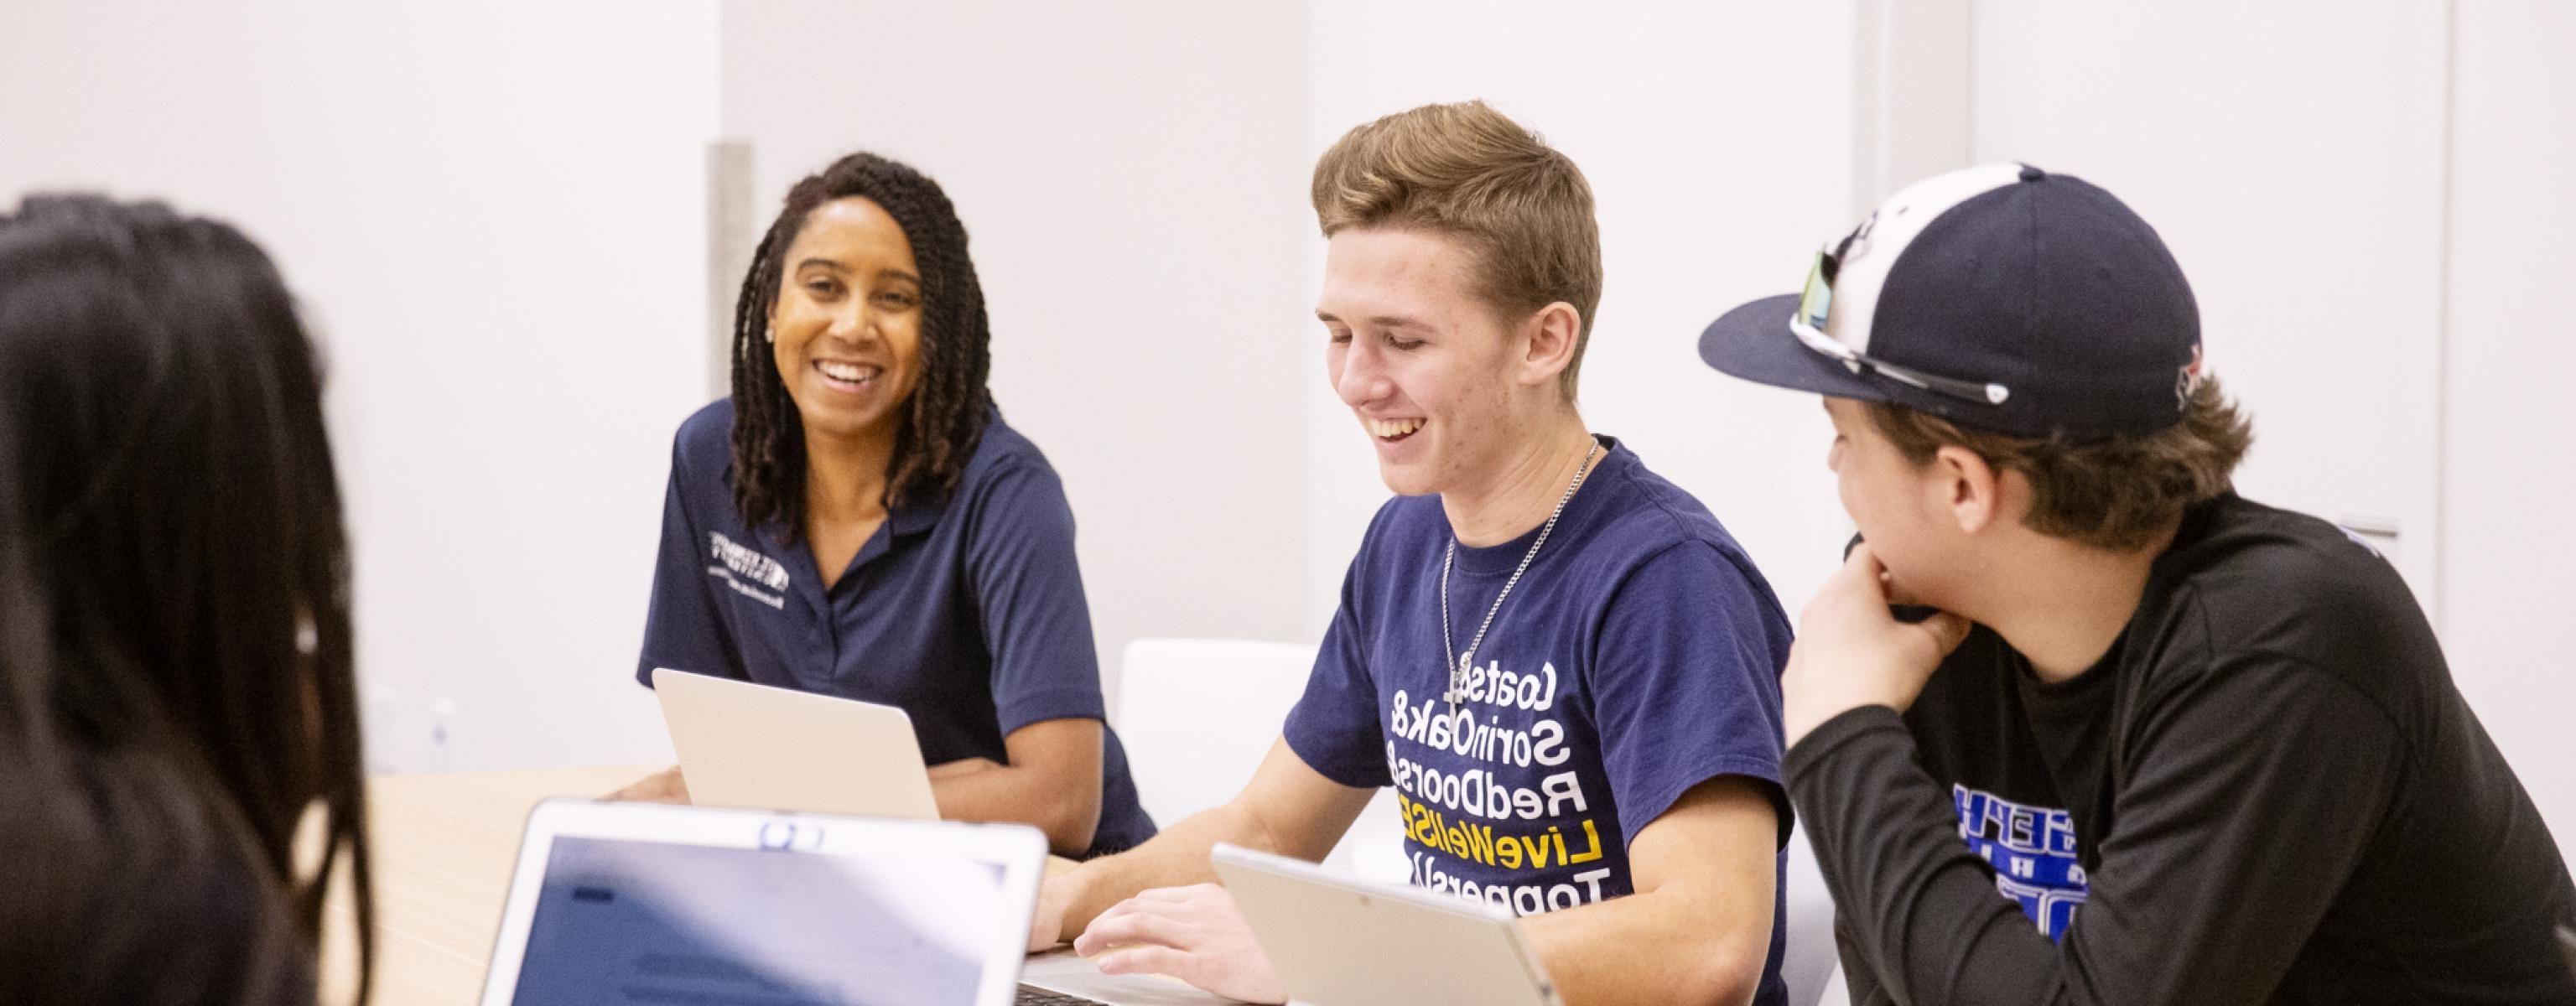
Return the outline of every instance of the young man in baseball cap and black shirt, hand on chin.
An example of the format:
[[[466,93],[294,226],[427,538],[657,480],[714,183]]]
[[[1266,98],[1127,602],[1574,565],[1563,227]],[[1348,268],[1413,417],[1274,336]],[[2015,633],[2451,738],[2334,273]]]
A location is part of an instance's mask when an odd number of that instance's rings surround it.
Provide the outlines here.
[[[2540,810],[2388,561],[2236,497],[2117,198],[1922,180],[1700,358],[1824,396],[1860,527],[1785,672],[1855,1003],[2576,1001]]]

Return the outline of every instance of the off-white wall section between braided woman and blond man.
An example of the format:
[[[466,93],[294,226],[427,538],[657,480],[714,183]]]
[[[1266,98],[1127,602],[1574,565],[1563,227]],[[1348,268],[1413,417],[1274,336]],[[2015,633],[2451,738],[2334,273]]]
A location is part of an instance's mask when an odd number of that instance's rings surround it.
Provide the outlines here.
[[[940,180],[994,399],[1079,522],[1103,669],[1136,636],[1311,638],[1298,5],[724,3],[752,219],[873,149]]]

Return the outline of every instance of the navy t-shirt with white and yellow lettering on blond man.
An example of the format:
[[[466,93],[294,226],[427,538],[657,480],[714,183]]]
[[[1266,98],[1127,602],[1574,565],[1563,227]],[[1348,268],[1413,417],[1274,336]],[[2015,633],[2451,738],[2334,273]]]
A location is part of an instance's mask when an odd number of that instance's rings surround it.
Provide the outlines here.
[[[1633,893],[1628,836],[1721,774],[1759,782],[1790,834],[1788,617],[1708,507],[1605,443],[1455,702],[1440,641],[1440,558],[1455,538],[1440,497],[1388,499],[1342,581],[1283,733],[1334,782],[1396,787],[1419,888],[1522,916]],[[1458,545],[1455,646],[1535,538]],[[1757,1003],[1785,996],[1780,911]]]

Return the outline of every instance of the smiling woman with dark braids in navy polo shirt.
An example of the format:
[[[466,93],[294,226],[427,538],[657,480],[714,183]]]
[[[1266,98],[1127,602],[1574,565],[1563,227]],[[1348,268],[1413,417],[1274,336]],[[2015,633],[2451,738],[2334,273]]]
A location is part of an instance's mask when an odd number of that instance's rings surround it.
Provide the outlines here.
[[[966,226],[850,154],[788,190],[734,309],[734,394],[680,425],[636,677],[912,715],[940,813],[1066,857],[1154,834],[1103,723],[1074,515],[984,386]],[[672,767],[618,792],[685,800]]]

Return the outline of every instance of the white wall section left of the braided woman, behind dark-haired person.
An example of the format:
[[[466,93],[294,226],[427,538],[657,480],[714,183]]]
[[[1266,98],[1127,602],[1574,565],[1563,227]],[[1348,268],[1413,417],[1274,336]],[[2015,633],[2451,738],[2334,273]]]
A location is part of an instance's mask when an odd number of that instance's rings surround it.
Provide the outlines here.
[[[711,3],[0,8],[0,201],[232,219],[319,322],[379,767],[667,756],[631,672],[667,430],[706,381],[714,28]]]

